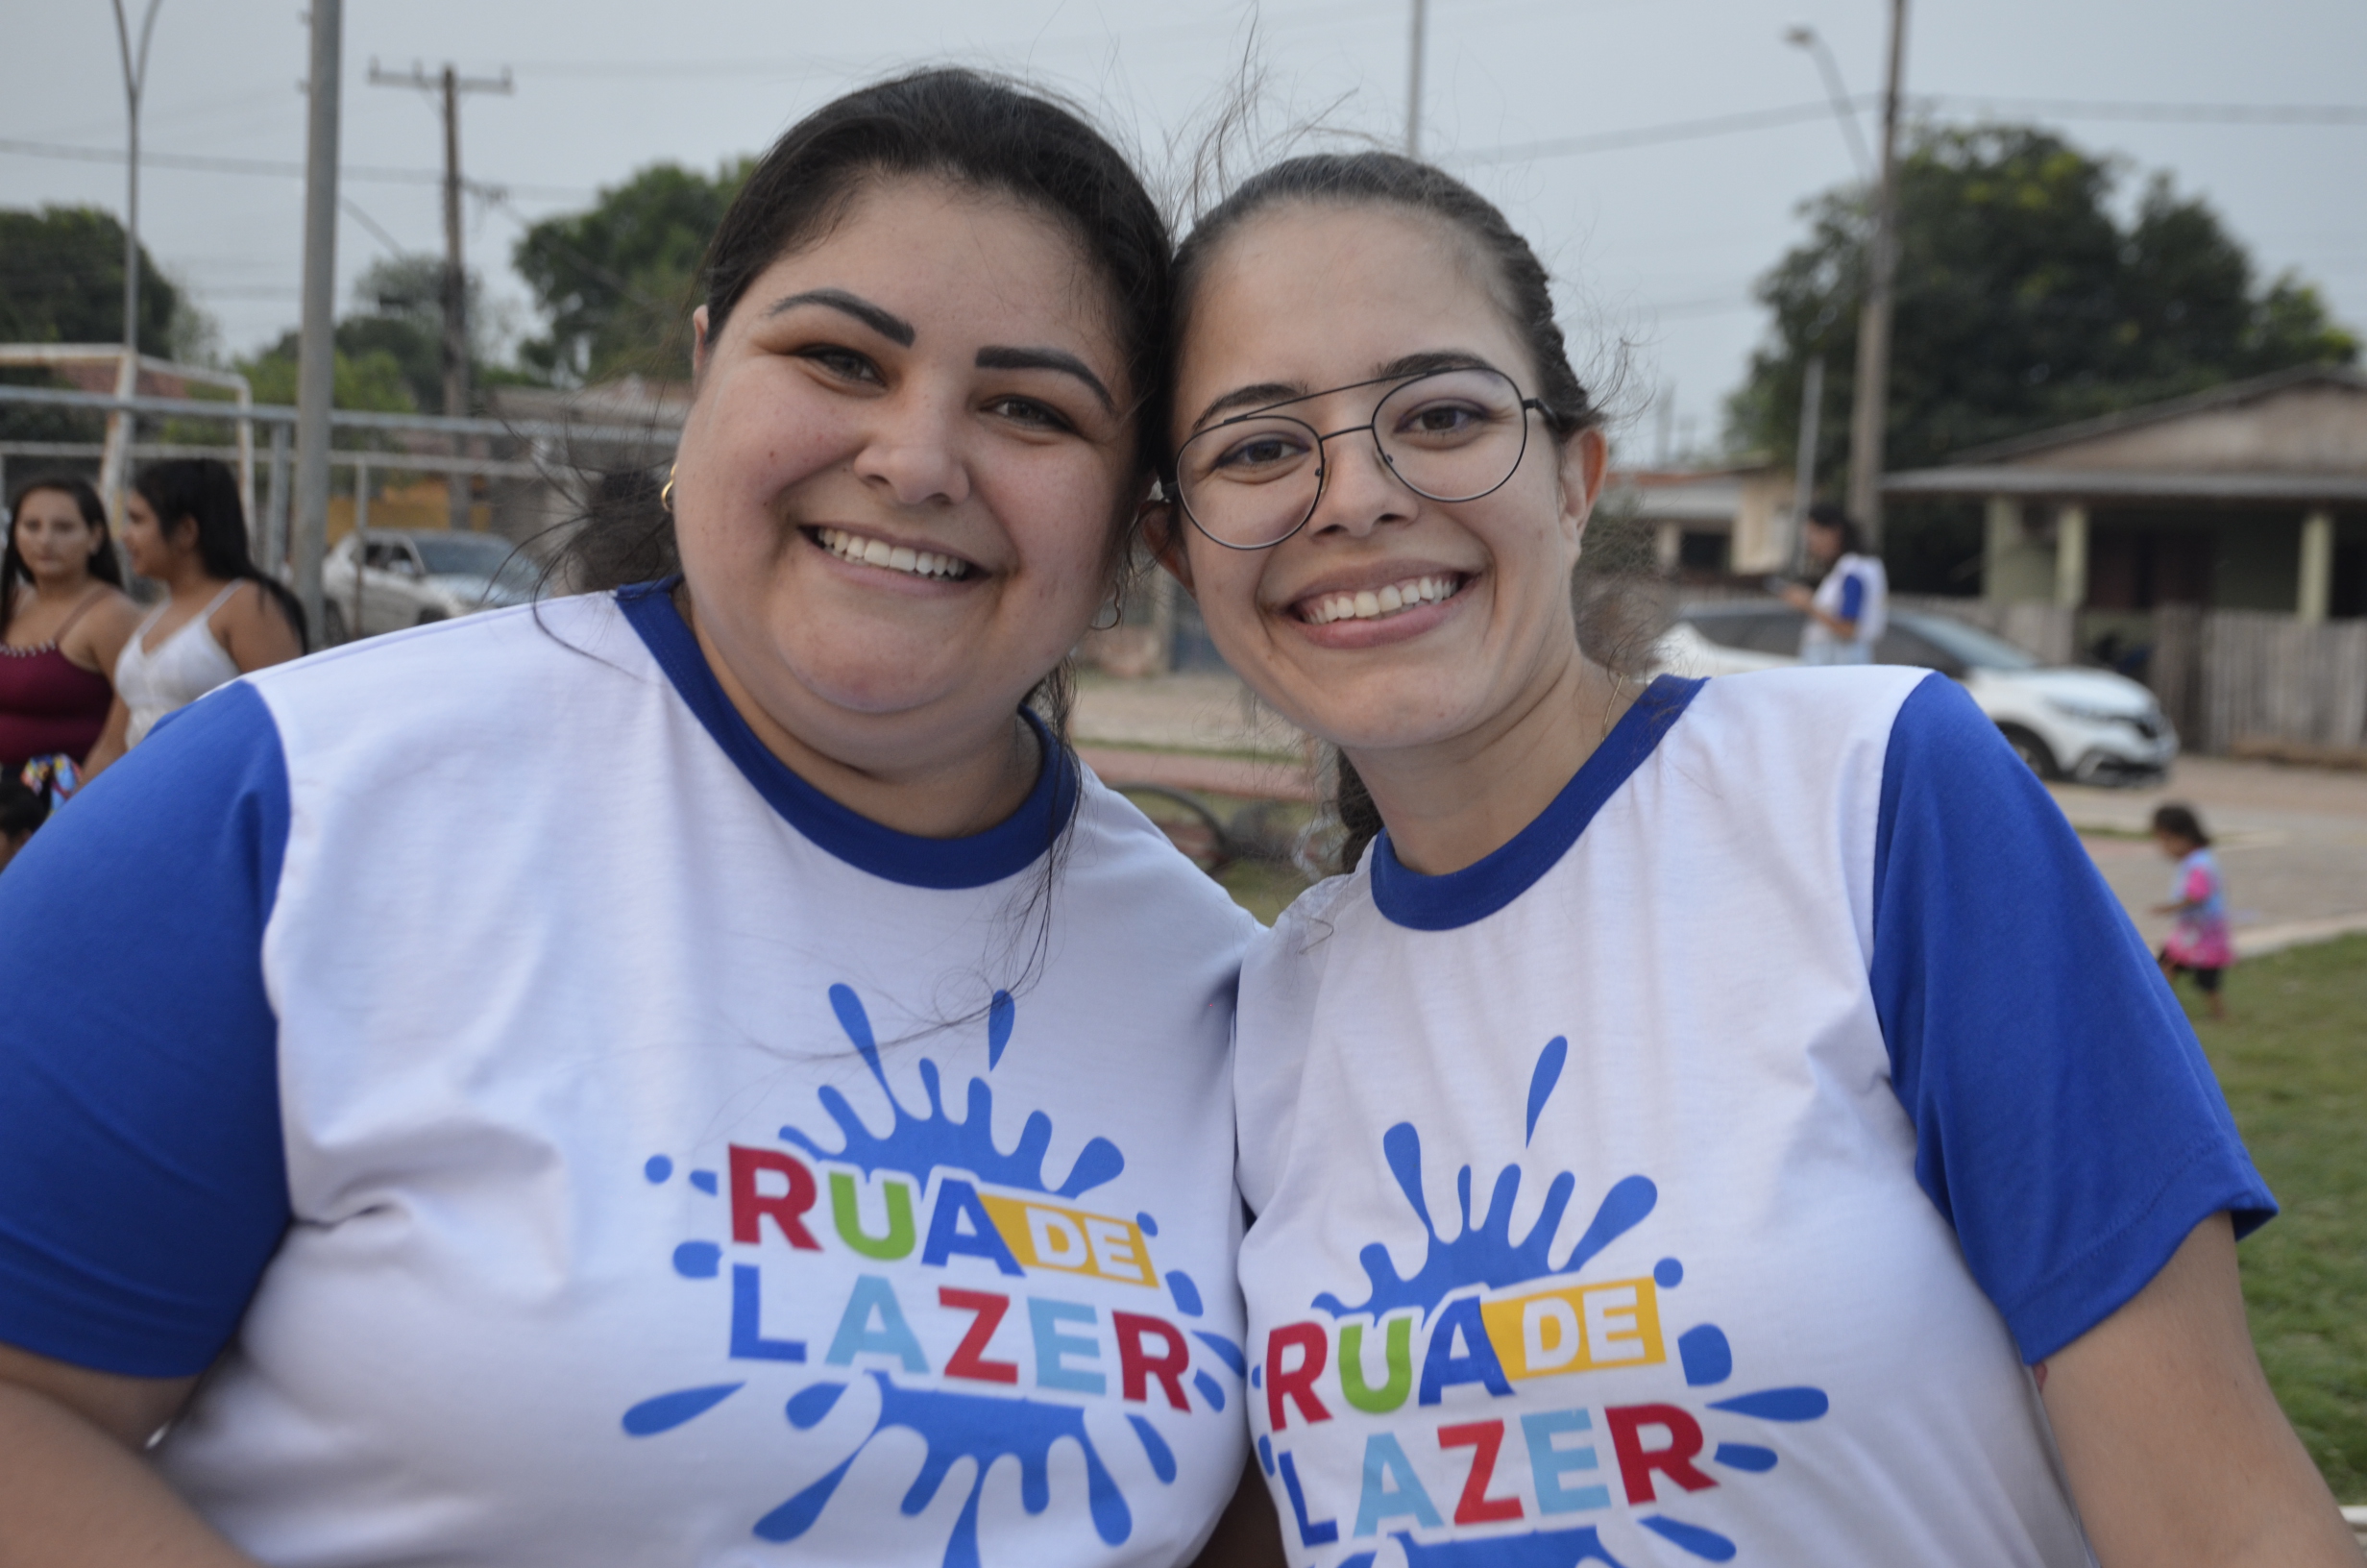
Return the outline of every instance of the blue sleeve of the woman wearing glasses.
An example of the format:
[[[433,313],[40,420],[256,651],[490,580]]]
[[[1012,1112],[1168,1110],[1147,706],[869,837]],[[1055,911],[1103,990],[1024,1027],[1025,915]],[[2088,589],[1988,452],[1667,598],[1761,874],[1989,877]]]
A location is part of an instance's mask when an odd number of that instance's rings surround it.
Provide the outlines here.
[[[1875,829],[1875,1009],[1915,1180],[2040,1362],[2199,1222],[2277,1213],[2185,1011],[1974,701],[1908,696]]]

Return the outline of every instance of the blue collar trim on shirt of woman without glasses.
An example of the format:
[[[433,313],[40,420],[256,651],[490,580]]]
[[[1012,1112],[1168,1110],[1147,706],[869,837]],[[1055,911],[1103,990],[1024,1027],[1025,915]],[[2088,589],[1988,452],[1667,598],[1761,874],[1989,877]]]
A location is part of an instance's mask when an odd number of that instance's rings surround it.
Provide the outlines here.
[[[921,838],[881,827],[871,817],[854,812],[828,798],[765,748],[755,730],[739,715],[724,696],[698,637],[675,609],[675,583],[637,583],[615,592],[625,621],[641,635],[658,668],[675,685],[675,694],[698,715],[715,744],[755,784],[757,793],[793,829],[845,860],[857,872],[869,872],[907,888],[985,888],[987,883],[1018,876],[1032,867],[1077,810],[1079,779],[1075,756],[1060,746],[1034,713],[1020,715],[1034,730],[1044,765],[1037,770],[1034,789],[1015,812],[982,834],[968,838]]]

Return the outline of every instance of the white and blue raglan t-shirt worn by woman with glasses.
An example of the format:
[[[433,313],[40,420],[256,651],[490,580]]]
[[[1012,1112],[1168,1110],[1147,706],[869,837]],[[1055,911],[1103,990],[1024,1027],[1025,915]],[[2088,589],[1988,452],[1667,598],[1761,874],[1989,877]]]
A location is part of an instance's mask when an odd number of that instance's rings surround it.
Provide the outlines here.
[[[1243,966],[1292,1563],[2088,1563],[2024,1362],[2272,1213],[2052,801],[1920,670],[1662,677]]]

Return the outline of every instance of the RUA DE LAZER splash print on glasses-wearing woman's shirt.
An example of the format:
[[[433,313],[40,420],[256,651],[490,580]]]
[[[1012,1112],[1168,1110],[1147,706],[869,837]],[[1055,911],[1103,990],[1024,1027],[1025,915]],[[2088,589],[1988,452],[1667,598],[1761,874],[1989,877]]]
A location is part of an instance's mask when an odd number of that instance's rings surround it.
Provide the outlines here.
[[[1531,1137],[1567,1054],[1560,1035],[1536,1054],[1527,1094]],[[1255,1371],[1269,1426],[1257,1440],[1259,1464],[1283,1483],[1299,1540],[1333,1544],[1342,1528],[1356,1537],[1389,1535],[1415,1568],[1617,1566],[1602,1528],[1581,1523],[1617,1497],[1636,1509],[1638,1528],[1704,1561],[1733,1559],[1733,1540],[1685,1521],[1688,1492],[1773,1471],[1778,1450],[1768,1447],[1768,1433],[1820,1419],[1827,1397],[1811,1386],[1726,1388],[1733,1348],[1718,1324],[1685,1322],[1683,1258],[1657,1258],[1631,1279],[1588,1267],[1647,1227],[1659,1203],[1652,1177],[1626,1175],[1602,1194],[1579,1194],[1576,1177],[1557,1172],[1515,1236],[1520,1165],[1496,1172],[1482,1213],[1472,1213],[1475,1170],[1463,1165],[1456,1177],[1463,1213],[1442,1234],[1423,1196],[1420,1127],[1397,1123],[1380,1142],[1427,1239],[1420,1267],[1401,1277],[1387,1246],[1366,1246],[1363,1298],[1316,1296],[1314,1317],[1269,1331],[1266,1360]],[[1548,1246],[1574,1201],[1593,1203],[1593,1217],[1555,1265]],[[1456,1386],[1510,1397],[1515,1383],[1600,1371],[1624,1374],[1614,1393],[1562,1383],[1550,1407],[1534,1409],[1536,1400],[1527,1400],[1510,1419],[1444,1409]],[[1337,1416],[1363,1431],[1354,1523],[1309,1516],[1288,1447],[1292,1426],[1304,1433]],[[1517,1485],[1522,1478],[1527,1487]],[[1520,1537],[1415,1537],[1415,1528],[1524,1518],[1539,1528]],[[1340,1559],[1342,1568],[1373,1561],[1373,1551]]]

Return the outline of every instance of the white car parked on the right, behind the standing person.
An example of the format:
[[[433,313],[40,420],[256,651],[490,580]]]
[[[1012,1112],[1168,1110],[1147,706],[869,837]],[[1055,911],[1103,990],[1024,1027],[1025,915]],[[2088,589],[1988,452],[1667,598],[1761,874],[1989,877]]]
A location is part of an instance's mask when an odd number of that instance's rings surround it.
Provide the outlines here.
[[[1775,602],[1678,611],[1655,649],[1678,675],[1730,675],[1799,663],[1801,611]],[[2154,694],[2111,670],[2045,666],[1976,625],[1891,611],[1877,663],[1908,663],[1960,682],[2040,779],[2154,782],[2178,756],[2178,732]]]

